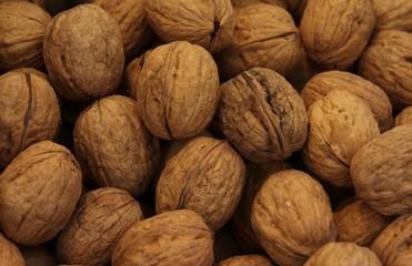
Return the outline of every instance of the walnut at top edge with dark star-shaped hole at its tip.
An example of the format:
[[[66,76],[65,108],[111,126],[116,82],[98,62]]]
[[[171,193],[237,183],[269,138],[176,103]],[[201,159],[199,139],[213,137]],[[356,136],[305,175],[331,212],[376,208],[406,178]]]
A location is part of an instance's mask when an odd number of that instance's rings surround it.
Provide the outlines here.
[[[164,41],[188,41],[214,53],[233,38],[234,11],[230,0],[143,0],[147,19]]]

